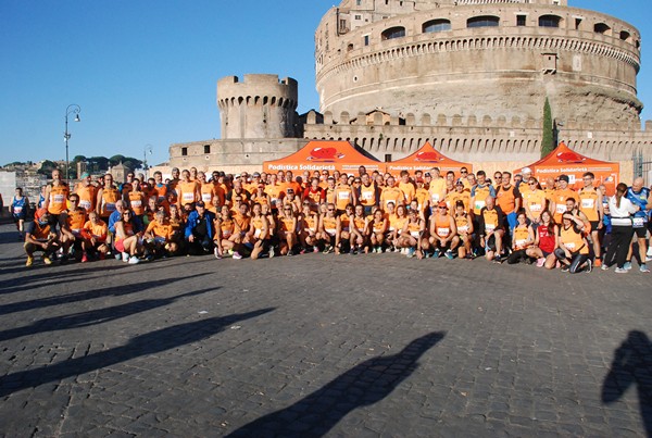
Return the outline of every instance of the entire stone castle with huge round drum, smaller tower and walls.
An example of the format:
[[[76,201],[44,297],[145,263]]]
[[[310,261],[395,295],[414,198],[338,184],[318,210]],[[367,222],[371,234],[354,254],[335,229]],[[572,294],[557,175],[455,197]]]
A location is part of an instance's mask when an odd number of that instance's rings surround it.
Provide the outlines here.
[[[425,141],[486,171],[540,158],[548,98],[555,135],[619,161],[652,161],[637,99],[640,34],[567,0],[343,0],[315,33],[319,111],[297,114],[276,75],[217,83],[221,140],[172,145],[171,166],[259,170],[311,139],[349,140],[380,161]],[[647,176],[647,175],[645,175]]]

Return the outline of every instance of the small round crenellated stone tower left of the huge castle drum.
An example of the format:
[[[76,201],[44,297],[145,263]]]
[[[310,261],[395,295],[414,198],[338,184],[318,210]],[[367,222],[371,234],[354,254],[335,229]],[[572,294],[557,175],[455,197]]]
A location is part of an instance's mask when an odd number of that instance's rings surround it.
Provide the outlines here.
[[[297,80],[278,75],[244,75],[217,80],[222,138],[285,138],[297,136]]]

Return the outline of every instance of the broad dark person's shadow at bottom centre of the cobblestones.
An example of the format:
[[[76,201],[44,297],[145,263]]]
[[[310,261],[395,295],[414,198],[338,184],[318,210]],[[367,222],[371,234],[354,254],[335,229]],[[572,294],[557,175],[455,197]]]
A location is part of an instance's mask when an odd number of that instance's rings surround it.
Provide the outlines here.
[[[262,416],[228,437],[323,436],[349,412],[389,396],[444,335],[434,331],[414,339],[397,354],[364,361],[294,404]]]

